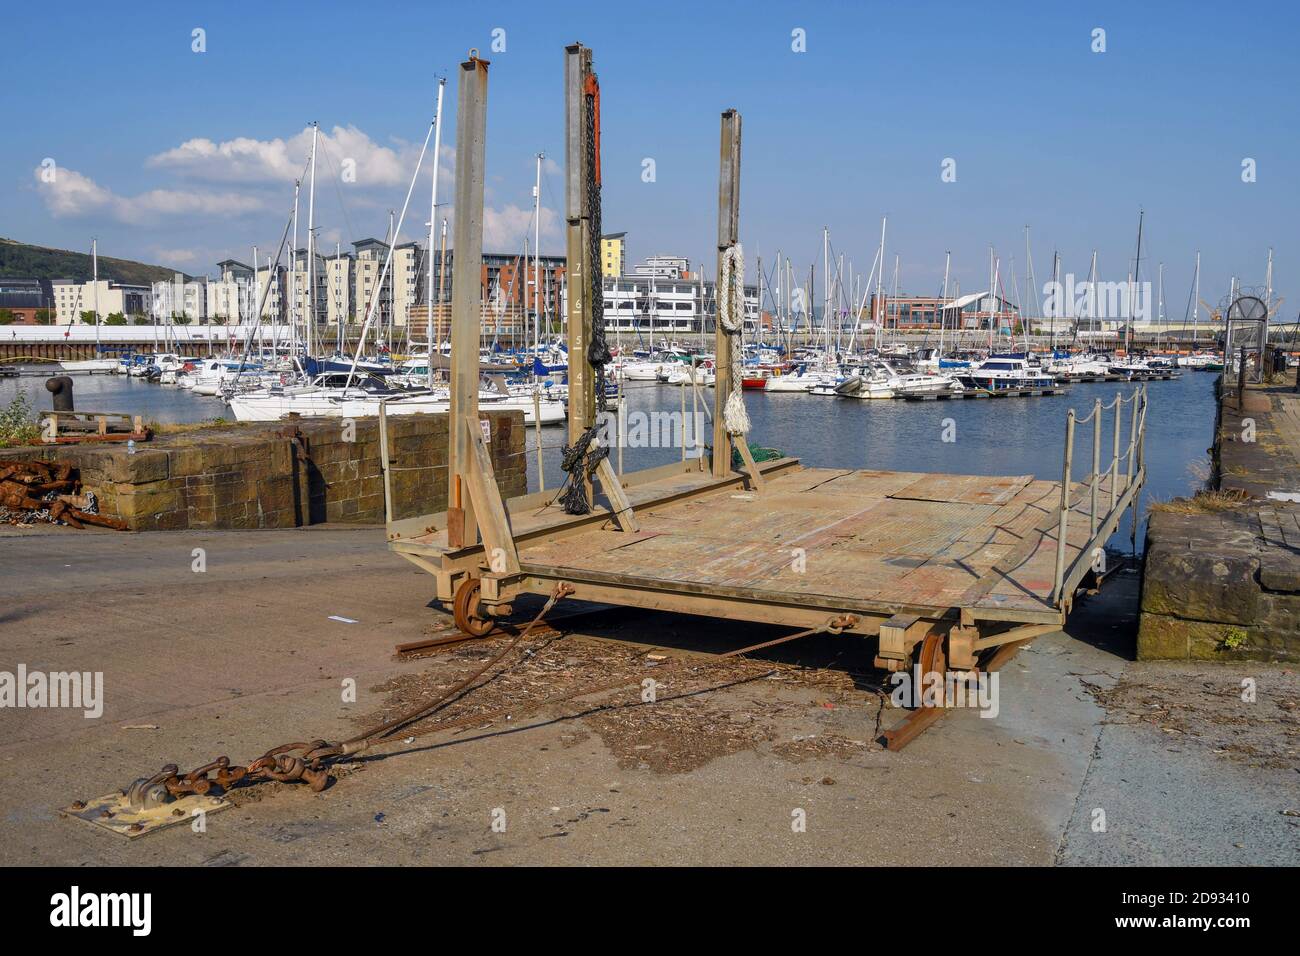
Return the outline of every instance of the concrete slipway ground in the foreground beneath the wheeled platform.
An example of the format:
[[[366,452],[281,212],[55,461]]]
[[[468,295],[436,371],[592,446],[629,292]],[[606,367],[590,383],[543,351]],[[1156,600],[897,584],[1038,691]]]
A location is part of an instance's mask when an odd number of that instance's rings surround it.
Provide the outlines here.
[[[207,551],[203,574],[194,548]],[[404,685],[451,675],[469,652],[393,659],[394,644],[442,626],[417,597],[428,580],[378,529],[0,532],[0,670],[103,671],[107,701],[100,719],[0,710],[0,862],[1300,860],[1300,817],[1287,813],[1300,810],[1296,675],[1128,661],[1132,576],[1082,604],[1069,635],[1040,637],[1008,665],[997,718],[954,713],[901,753],[871,743],[878,715],[889,726],[901,714],[850,676],[870,671],[870,650],[824,636],[774,649],[753,679],[705,667],[682,689],[729,685],[662,701],[658,715],[549,719],[577,710],[558,708],[419,739],[324,793],[269,791],[203,834],[179,826],[127,842],[56,814],[169,761],[344,736]],[[634,610],[575,627],[538,661],[619,661],[642,641],[705,659],[763,633]],[[1239,702],[1243,675],[1257,679],[1253,705]],[[348,676],[355,704],[341,702]],[[142,726],[157,728],[126,730]],[[1104,832],[1092,827],[1098,808]],[[796,810],[803,832],[792,831]]]

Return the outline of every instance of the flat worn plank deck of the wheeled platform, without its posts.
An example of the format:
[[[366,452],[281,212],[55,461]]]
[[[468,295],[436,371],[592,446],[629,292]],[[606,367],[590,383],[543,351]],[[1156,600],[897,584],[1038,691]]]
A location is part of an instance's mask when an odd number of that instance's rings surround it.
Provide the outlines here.
[[[438,578],[442,600],[481,576],[489,606],[564,581],[580,600],[796,627],[853,614],[846,630],[859,633],[897,615],[994,630],[1065,619],[1069,598],[1052,593],[1058,481],[803,468],[790,458],[760,471],[760,489],[740,472],[714,477],[699,460],[627,475],[630,532],[607,503],[575,518],[551,503],[555,492],[514,498],[515,574],[494,574],[482,545],[450,548],[445,515],[391,523],[389,544]],[[1084,488],[1074,497],[1087,506]],[[1106,515],[1109,494],[1102,483],[1098,523],[1108,527],[1097,533],[1086,510],[1072,514],[1066,594],[1127,501],[1119,496]]]

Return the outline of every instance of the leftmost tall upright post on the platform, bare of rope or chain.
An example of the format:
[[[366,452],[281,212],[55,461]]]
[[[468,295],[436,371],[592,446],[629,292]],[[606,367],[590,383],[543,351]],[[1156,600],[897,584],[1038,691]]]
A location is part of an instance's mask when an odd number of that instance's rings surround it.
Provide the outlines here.
[[[456,225],[451,264],[451,408],[447,419],[447,494],[468,489],[473,466],[469,429],[478,428],[480,297],[484,254],[484,153],[488,61],[460,64],[456,88]],[[437,164],[437,157],[434,157]],[[473,502],[462,496],[465,541],[477,541]]]

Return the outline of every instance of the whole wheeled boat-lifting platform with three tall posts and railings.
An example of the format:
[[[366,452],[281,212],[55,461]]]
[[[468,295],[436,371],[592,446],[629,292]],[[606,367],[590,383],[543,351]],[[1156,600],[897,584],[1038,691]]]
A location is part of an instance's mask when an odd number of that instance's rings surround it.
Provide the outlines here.
[[[467,146],[456,157],[454,490],[446,511],[391,519],[382,406],[380,421],[389,548],[433,575],[438,598],[451,604],[465,633],[488,632],[521,594],[568,596],[801,628],[789,639],[814,632],[867,639],[878,643],[880,667],[909,670],[916,662],[924,672],[970,676],[998,666],[1008,648],[1061,627],[1076,591],[1104,576],[1104,545],[1124,509],[1139,506],[1145,386],[1106,406],[1097,399],[1083,418],[1072,410],[1066,415],[1060,480],[811,468],[794,458],[755,464],[746,436],[727,429],[733,352],[719,321],[710,458],[621,476],[606,458],[590,473],[571,473],[569,488],[584,481],[590,496],[580,514],[567,510],[555,490],[503,501],[477,410],[474,276],[482,250],[486,88],[488,64],[462,64],[456,142]],[[599,182],[589,139],[599,130],[589,112],[593,88],[598,103],[590,51],[568,47],[569,276],[593,274],[590,235],[598,234],[590,193]],[[740,114],[724,112],[719,276],[737,247],[740,131]],[[598,368],[585,359],[589,303],[598,289],[575,282],[568,297],[571,446],[590,441],[597,421]],[[1091,457],[1082,455],[1086,464],[1076,468],[1076,429],[1089,423]],[[1076,476],[1084,471],[1087,477]],[[936,710],[942,708],[915,711],[887,734],[889,744],[901,747],[937,719]]]

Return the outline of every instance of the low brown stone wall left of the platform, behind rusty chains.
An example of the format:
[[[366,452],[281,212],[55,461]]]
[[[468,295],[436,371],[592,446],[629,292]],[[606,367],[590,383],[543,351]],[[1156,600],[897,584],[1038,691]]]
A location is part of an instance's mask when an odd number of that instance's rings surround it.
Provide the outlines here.
[[[520,411],[482,412],[503,497],[528,490]],[[124,445],[40,445],[0,458],[77,466],[99,509],[131,531],[292,528],[320,522],[384,522],[378,420],[221,425]],[[447,506],[447,416],[389,419],[394,516]]]

